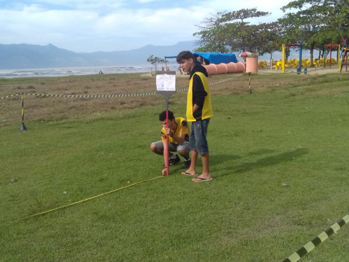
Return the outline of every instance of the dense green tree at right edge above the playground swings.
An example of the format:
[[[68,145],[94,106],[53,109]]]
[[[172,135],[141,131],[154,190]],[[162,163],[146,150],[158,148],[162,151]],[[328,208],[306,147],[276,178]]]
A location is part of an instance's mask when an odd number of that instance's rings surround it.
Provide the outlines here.
[[[348,35],[348,0],[295,0],[282,7],[284,12],[287,9],[296,11],[278,20],[284,42],[310,49],[310,66],[314,66],[314,49],[323,50],[325,44],[338,43]]]

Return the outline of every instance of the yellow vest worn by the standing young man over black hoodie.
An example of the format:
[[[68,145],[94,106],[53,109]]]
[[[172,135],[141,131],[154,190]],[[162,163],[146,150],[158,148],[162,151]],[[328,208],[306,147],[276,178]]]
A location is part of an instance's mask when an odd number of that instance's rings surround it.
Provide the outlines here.
[[[209,94],[207,77],[202,72],[195,72],[189,80],[189,88],[188,88],[188,96],[187,96],[187,113],[186,113],[186,115],[187,115],[187,121],[190,121],[190,122],[196,121],[195,117],[193,116],[193,77],[194,77],[194,75],[200,76],[201,81],[203,82],[203,85],[204,85],[204,90],[207,93],[207,96],[205,97],[205,100],[204,100],[203,113],[202,113],[201,119],[206,119],[206,118],[210,118],[213,116],[211,97]]]

